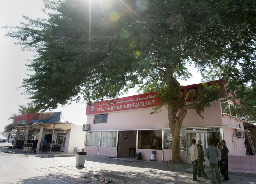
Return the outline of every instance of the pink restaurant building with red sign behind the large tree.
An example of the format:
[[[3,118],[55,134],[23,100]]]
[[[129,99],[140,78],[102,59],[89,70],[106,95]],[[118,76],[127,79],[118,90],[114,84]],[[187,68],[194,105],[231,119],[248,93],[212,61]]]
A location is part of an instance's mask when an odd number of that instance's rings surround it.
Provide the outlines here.
[[[84,146],[87,154],[128,157],[134,156],[135,152],[141,152],[142,160],[150,160],[151,151],[154,150],[156,161],[171,160],[172,133],[168,124],[167,108],[163,106],[160,112],[150,114],[152,108],[159,104],[155,95],[155,92],[151,92],[87,105],[86,123],[90,124]],[[244,172],[256,173],[250,171],[253,168],[250,165],[256,164],[256,157],[253,156],[249,161],[244,139],[236,137],[237,131],[244,131],[243,121],[222,114],[220,100],[212,103],[202,115],[204,119],[196,116],[193,109],[187,111],[179,139],[182,160],[191,163],[189,147],[192,139],[202,140],[204,150],[210,140],[214,140],[216,145],[225,140],[229,149],[229,168],[234,171],[242,168]],[[205,160],[209,166],[208,160]],[[248,160],[249,165],[244,165],[244,160]]]

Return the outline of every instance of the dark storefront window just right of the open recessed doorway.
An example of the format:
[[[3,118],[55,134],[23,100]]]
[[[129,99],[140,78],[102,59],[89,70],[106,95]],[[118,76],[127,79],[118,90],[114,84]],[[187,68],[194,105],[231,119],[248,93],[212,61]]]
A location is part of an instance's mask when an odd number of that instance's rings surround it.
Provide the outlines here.
[[[140,149],[162,149],[162,130],[139,131]]]

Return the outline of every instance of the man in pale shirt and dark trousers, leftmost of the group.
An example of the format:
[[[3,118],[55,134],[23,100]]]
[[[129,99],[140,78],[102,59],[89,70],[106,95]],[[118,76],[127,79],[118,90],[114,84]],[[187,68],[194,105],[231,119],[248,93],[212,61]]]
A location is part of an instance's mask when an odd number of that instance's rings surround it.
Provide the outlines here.
[[[193,164],[193,181],[200,181],[196,178],[197,175],[197,167],[199,165],[199,158],[198,158],[198,149],[196,147],[196,140],[192,140],[192,146],[189,148],[190,151],[190,158]]]

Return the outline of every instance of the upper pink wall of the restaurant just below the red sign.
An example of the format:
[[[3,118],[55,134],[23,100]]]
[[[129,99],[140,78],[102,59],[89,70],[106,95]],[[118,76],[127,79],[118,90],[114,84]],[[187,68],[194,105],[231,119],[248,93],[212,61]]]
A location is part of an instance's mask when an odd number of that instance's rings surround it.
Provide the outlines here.
[[[162,111],[150,114],[152,108],[126,110],[108,113],[108,122],[93,124],[94,115],[87,115],[87,124],[90,130],[136,130],[136,129],[161,129],[169,128],[167,108],[162,107]],[[195,126],[217,126],[221,125],[221,105],[220,102],[212,103],[212,106],[202,113],[204,119],[196,116],[193,109],[187,111],[187,116],[183,121],[183,127]]]

